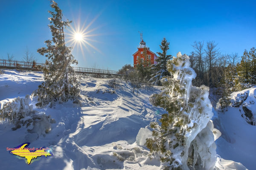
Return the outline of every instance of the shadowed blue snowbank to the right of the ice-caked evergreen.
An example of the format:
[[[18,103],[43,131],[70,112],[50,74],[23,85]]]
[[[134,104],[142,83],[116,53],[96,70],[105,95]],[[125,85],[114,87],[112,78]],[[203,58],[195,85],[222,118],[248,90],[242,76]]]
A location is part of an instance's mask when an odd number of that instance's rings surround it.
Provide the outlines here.
[[[215,141],[217,153],[224,159],[241,162],[249,170],[256,169],[256,126],[246,122],[244,109],[247,107],[256,120],[256,86],[231,94],[233,106],[224,113],[215,112],[213,122],[221,131]],[[244,116],[244,118],[242,117]]]

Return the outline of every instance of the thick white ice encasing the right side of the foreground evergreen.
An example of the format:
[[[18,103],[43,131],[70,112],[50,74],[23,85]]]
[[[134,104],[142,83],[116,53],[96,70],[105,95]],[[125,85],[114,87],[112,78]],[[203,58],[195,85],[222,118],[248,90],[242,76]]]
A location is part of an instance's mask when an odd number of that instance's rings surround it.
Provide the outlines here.
[[[208,98],[209,88],[202,85],[200,88],[192,86],[192,79],[196,77],[195,71],[189,67],[189,57],[179,52],[177,58],[181,58],[178,66],[173,66],[174,78],[180,80],[186,88],[185,104],[193,104],[190,109],[189,123],[193,122],[191,130],[187,130],[184,144],[184,155],[180,157],[183,170],[213,170],[216,161],[216,145],[212,133],[213,124],[210,119],[213,116],[212,105]],[[190,73],[190,74],[181,74]],[[189,123],[187,127],[189,127]],[[191,125],[190,125],[191,126]]]

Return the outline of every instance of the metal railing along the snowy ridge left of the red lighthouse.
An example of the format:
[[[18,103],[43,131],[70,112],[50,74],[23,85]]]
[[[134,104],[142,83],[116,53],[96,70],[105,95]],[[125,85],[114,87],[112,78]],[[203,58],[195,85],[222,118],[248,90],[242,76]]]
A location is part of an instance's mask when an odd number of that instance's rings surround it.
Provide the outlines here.
[[[37,66],[44,67],[44,63],[38,62],[24,62],[24,61],[14,61],[14,60],[7,60],[7,59],[0,59],[0,68],[9,68],[9,69],[26,69],[26,70],[38,70]],[[113,70],[104,70],[98,68],[83,68],[83,67],[73,67],[77,73],[84,73],[84,74],[112,74],[112,75],[119,75],[118,71]]]

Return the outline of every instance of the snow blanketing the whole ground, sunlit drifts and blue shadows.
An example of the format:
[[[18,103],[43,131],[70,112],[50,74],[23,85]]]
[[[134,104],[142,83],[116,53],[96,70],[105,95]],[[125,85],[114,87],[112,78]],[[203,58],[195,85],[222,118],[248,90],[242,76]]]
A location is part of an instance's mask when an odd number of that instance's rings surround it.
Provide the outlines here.
[[[43,74],[38,72],[4,72],[0,75],[0,101],[25,97],[44,80]],[[51,115],[56,121],[46,135],[29,133],[26,127],[13,131],[14,125],[0,123],[0,169],[160,169],[160,161],[149,159],[148,149],[142,145],[146,136],[141,133],[143,130],[138,135],[140,128],[160,119],[160,114],[164,113],[148,102],[149,96],[159,93],[160,89],[142,88],[137,96],[128,82],[117,80],[114,89],[110,87],[111,79],[80,77],[79,80],[81,105],[67,102],[54,108],[38,109],[36,99],[32,100],[35,111]],[[256,167],[256,126],[241,117],[239,108],[230,108],[224,114],[215,112],[213,120],[222,132],[215,141],[217,154],[233,160],[218,156],[216,170],[245,170],[242,164],[253,170]],[[42,156],[28,165],[6,150],[6,147],[25,142],[31,143],[29,147],[49,147],[54,156]]]

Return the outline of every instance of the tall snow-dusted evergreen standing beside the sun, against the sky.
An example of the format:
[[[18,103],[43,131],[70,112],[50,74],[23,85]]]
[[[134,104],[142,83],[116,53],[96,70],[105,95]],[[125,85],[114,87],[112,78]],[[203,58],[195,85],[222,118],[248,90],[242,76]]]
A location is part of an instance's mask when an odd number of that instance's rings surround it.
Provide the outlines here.
[[[52,11],[48,11],[52,17],[49,18],[49,28],[52,32],[52,40],[45,41],[47,48],[38,49],[38,53],[48,58],[45,62],[44,80],[34,92],[38,96],[38,107],[43,107],[54,102],[66,102],[68,99],[76,99],[79,96],[78,82],[75,71],[71,64],[77,64],[71,54],[71,47],[65,45],[64,28],[71,21],[63,21],[62,11],[54,1],[51,3]]]

